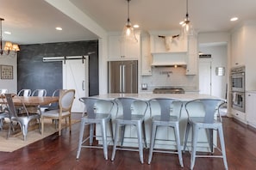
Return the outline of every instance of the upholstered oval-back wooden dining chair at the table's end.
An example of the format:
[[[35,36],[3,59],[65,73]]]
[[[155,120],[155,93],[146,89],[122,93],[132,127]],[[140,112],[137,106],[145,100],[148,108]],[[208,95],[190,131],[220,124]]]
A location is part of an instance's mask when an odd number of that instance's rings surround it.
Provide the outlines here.
[[[44,132],[44,119],[57,119],[59,124],[59,136],[61,136],[61,120],[69,118],[69,130],[71,131],[71,110],[73,100],[75,98],[75,90],[69,89],[59,96],[59,109],[41,112],[41,133]]]

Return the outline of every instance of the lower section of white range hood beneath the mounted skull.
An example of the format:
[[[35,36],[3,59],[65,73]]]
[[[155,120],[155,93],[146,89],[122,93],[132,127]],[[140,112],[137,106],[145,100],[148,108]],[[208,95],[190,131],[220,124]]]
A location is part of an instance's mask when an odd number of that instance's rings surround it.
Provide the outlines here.
[[[152,66],[186,65],[187,52],[153,52]]]

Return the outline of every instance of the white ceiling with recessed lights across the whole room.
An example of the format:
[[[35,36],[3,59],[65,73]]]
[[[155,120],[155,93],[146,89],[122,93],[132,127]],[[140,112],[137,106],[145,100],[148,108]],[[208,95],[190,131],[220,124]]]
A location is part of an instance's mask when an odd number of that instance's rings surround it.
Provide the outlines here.
[[[0,0],[0,4],[3,31],[12,33],[3,33],[3,40],[19,44],[97,39],[98,27],[105,32],[122,31],[128,17],[126,0]],[[185,0],[131,0],[130,20],[140,30],[179,29],[185,4]],[[256,1],[189,0],[189,15],[199,33],[230,31],[241,22],[256,21]],[[87,16],[95,25],[86,23]],[[239,20],[229,21],[233,16]]]

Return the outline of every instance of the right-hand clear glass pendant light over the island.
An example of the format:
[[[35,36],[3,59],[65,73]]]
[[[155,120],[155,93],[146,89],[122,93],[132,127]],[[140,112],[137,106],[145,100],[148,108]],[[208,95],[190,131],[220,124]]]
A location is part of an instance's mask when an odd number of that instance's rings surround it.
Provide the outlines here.
[[[194,30],[189,17],[189,2],[186,0],[186,15],[184,21],[180,22],[182,25],[182,34],[184,35],[192,35]]]

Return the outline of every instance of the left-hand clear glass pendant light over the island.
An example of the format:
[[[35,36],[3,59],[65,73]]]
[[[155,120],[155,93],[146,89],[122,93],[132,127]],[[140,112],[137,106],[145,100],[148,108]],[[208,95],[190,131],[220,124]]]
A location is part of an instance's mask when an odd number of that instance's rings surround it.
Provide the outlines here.
[[[128,2],[128,19],[127,19],[125,26],[123,27],[122,41],[136,43],[136,42],[138,42],[138,39],[136,39],[136,36],[134,34],[134,27],[129,18],[129,3],[130,3],[130,1],[131,0],[127,0],[127,2]]]

